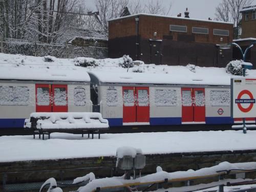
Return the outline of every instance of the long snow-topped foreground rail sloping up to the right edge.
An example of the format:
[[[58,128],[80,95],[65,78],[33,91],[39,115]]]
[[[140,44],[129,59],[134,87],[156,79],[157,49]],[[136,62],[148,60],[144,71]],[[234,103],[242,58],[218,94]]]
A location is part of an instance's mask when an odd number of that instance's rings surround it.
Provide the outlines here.
[[[256,162],[248,163],[229,163],[222,162],[216,166],[201,168],[199,170],[187,170],[179,171],[173,173],[164,172],[161,167],[157,168],[157,173],[146,175],[134,180],[124,180],[123,177],[113,177],[113,178],[104,178],[104,179],[95,179],[92,182],[88,183],[86,186],[80,187],[79,192],[94,191],[97,187],[104,188],[114,188],[114,187],[124,187],[127,185],[143,185],[158,182],[164,182],[167,179],[169,182],[172,181],[187,181],[195,178],[203,177],[214,177],[223,174],[229,173],[239,173],[239,171],[247,171],[256,169]]]

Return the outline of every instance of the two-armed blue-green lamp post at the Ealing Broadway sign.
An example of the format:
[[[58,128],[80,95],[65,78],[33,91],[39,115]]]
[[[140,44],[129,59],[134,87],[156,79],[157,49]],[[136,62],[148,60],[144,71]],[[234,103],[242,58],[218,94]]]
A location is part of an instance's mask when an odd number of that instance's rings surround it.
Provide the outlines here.
[[[233,45],[233,46],[236,46],[240,50],[240,52],[241,52],[241,54],[243,56],[243,63],[242,63],[243,77],[245,77],[245,70],[246,69],[252,69],[251,63],[246,62],[246,54],[254,46],[254,44],[256,44],[256,41],[253,41],[251,43],[251,45],[248,46],[244,52],[243,52],[242,48],[236,42],[231,42],[230,44],[222,44],[222,45],[220,45],[220,49],[230,49],[231,45]],[[243,118],[243,133],[246,134],[245,118]]]

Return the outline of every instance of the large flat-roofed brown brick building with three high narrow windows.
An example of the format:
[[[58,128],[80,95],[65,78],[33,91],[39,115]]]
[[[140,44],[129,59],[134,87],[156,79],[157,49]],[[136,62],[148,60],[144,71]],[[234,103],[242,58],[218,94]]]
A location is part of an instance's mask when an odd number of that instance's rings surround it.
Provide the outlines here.
[[[212,20],[136,14],[109,21],[109,56],[145,63],[225,67],[232,50],[219,44],[232,39],[232,24]]]

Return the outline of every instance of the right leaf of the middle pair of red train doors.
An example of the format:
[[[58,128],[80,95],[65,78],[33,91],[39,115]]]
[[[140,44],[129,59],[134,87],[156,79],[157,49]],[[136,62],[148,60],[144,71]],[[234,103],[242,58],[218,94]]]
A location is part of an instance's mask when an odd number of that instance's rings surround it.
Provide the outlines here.
[[[150,102],[148,87],[137,87],[137,122],[150,122]]]

